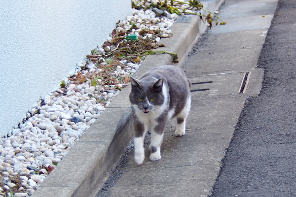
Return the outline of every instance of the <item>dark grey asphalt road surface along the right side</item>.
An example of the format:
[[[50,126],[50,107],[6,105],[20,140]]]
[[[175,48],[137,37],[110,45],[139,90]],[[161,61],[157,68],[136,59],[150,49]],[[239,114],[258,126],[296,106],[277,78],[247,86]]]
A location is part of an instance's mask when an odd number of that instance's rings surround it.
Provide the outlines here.
[[[279,0],[258,61],[262,90],[245,103],[212,197],[296,196],[295,11]]]

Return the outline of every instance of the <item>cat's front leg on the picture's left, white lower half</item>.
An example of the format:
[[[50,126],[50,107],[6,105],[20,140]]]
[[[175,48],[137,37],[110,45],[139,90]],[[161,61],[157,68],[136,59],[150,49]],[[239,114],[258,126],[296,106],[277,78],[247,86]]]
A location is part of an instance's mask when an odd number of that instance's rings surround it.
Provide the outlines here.
[[[139,121],[134,123],[135,136],[134,136],[134,152],[135,163],[138,165],[143,164],[145,159],[144,139],[147,127]]]

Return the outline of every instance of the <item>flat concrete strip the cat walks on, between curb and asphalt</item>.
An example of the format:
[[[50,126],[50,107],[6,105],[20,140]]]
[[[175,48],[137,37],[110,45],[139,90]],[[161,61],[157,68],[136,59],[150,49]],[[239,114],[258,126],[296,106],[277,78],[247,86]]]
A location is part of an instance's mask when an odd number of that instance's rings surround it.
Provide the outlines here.
[[[202,36],[182,65],[192,82],[185,136],[175,137],[175,121],[168,123],[161,160],[149,161],[148,142],[144,164],[136,165],[130,151],[127,164],[119,165],[120,178],[112,187],[108,181],[97,197],[211,194],[245,99],[259,94],[263,69],[256,65],[276,5],[275,0],[226,0],[219,16],[227,25]]]

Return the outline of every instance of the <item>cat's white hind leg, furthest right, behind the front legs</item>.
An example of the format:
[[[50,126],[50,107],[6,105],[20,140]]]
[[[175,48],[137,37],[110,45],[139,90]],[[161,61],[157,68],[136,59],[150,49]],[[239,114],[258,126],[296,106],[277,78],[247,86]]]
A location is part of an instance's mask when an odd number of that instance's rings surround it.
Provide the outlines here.
[[[186,124],[186,117],[190,111],[191,105],[191,98],[187,99],[184,109],[177,115],[177,125],[176,125],[176,136],[183,136],[185,135],[185,124]]]

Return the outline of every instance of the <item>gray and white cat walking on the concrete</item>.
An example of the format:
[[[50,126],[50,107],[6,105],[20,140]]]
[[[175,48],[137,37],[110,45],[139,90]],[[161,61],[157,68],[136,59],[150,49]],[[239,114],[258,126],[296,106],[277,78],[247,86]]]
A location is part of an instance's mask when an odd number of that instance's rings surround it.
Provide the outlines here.
[[[177,117],[175,135],[185,134],[185,119],[190,110],[190,83],[177,66],[152,68],[138,79],[131,77],[131,122],[134,129],[135,162],[144,162],[144,138],[151,130],[151,161],[160,160],[160,145],[167,120]]]

